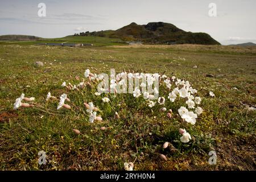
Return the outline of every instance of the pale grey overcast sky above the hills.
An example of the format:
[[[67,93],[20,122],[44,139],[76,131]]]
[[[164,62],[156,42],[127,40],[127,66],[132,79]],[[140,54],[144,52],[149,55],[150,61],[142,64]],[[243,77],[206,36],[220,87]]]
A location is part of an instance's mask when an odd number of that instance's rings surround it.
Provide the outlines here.
[[[46,16],[38,16],[45,3]],[[210,17],[209,3],[217,16]],[[256,43],[255,0],[9,0],[0,1],[0,35],[56,38],[81,31],[116,30],[131,22],[167,22],[207,32],[222,44]]]

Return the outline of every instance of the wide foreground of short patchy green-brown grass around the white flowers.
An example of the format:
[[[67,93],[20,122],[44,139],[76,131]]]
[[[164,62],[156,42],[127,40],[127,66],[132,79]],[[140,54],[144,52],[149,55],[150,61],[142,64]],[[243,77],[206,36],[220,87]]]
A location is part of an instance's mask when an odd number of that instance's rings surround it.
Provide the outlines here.
[[[134,170],[256,169],[255,48],[109,46],[118,40],[102,38],[100,42],[88,37],[77,41],[98,42],[98,47],[0,42],[0,169],[123,170],[125,162],[133,162]],[[44,66],[35,67],[35,61]],[[76,92],[60,86],[63,81],[79,83],[75,77],[81,81],[85,69],[110,74],[110,68],[116,72],[164,72],[188,80],[198,90],[204,112],[191,126],[175,115],[167,118],[158,111],[159,106],[149,109],[143,98],[108,95],[113,102],[104,104],[91,88]],[[209,97],[209,91],[216,97]],[[72,109],[56,110],[57,101],[46,102],[48,92],[56,97],[67,93]],[[35,97],[35,107],[13,110],[21,93]],[[100,107],[103,121],[89,122],[85,101]],[[166,107],[177,113],[176,105],[167,102]],[[120,119],[113,117],[116,110]],[[177,141],[181,137],[178,126],[191,134],[189,143]],[[164,142],[170,143],[166,149]],[[46,152],[46,165],[38,164],[41,150]],[[216,165],[208,164],[211,150],[216,151]]]

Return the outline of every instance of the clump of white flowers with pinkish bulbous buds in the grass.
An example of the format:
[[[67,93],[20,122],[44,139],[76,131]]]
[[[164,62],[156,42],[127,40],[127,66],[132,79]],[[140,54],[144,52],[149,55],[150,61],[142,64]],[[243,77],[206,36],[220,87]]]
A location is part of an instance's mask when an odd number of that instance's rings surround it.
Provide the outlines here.
[[[201,98],[197,94],[197,90],[192,88],[189,81],[181,80],[176,78],[175,76],[168,77],[166,75],[160,75],[158,73],[149,74],[149,73],[127,73],[122,72],[118,73],[113,77],[110,75],[110,85],[109,88],[101,88],[96,92],[95,85],[98,84],[100,80],[103,79],[101,75],[97,75],[95,73],[91,73],[89,69],[86,69],[84,72],[85,78],[82,80],[79,77],[76,77],[77,82],[75,84],[68,84],[64,81],[61,86],[67,89],[68,92],[78,92],[84,96],[84,92],[82,89],[86,87],[91,89],[94,97],[100,98],[103,106],[110,106],[112,104],[112,98],[108,97],[110,94],[110,90],[114,90],[114,96],[117,97],[117,86],[129,85],[130,82],[125,80],[127,77],[129,79],[134,79],[135,82],[137,80],[137,85],[134,86],[131,94],[137,100],[140,98],[141,101],[146,104],[150,110],[154,110],[155,107],[158,107],[160,113],[167,112],[168,118],[172,117],[172,106],[179,105],[179,109],[175,110],[174,113],[178,113],[180,119],[185,122],[195,125],[196,119],[203,112],[203,109],[199,106],[201,104]],[[86,81],[85,81],[86,80]],[[156,84],[157,83],[157,84]],[[159,85],[158,85],[159,84]],[[130,86],[130,85],[129,85]],[[147,90],[146,88],[151,88],[151,90]],[[159,88],[162,88],[164,92],[159,92]],[[107,92],[106,92],[107,91]],[[105,92],[105,94],[103,94]],[[154,94],[153,94],[154,93]],[[155,97],[158,95],[159,97]],[[214,93],[210,92],[209,95],[214,97]],[[111,99],[111,101],[110,101]],[[22,107],[31,107],[32,104],[22,103],[22,101],[31,102],[34,101],[34,97],[24,97],[22,94],[19,98],[16,99],[14,104],[14,109],[18,109],[20,106]],[[48,92],[46,101],[55,101],[58,100],[56,97],[52,96],[50,92]],[[71,103],[70,105],[67,103]],[[82,102],[81,102],[82,103]],[[97,102],[94,102],[97,103]],[[75,104],[69,100],[67,94],[61,94],[59,98],[59,104],[57,105],[57,110],[61,108],[71,109]],[[72,106],[72,107],[71,107]],[[100,114],[104,112],[104,110],[100,110],[100,107],[94,106],[93,101],[85,102],[84,106],[86,108],[86,112],[89,117],[89,122],[93,123],[95,121],[102,121],[102,117]],[[160,108],[160,109],[159,109]],[[157,111],[158,111],[157,110]],[[114,118],[119,119],[119,114],[115,111]],[[182,135],[180,141],[183,143],[189,142],[191,140],[191,135],[187,133],[185,129],[180,129],[179,133]],[[127,166],[127,165],[126,165]],[[126,167],[130,169],[130,167]]]

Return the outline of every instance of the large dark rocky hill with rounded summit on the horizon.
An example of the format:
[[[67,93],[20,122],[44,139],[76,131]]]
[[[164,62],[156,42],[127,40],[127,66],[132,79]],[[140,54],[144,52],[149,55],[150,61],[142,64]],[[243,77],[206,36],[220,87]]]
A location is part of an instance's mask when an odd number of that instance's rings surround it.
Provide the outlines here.
[[[76,35],[108,36],[110,38],[140,41],[149,44],[220,44],[206,33],[186,32],[177,28],[174,24],[163,22],[151,22],[143,25],[133,22],[115,31],[82,32]]]

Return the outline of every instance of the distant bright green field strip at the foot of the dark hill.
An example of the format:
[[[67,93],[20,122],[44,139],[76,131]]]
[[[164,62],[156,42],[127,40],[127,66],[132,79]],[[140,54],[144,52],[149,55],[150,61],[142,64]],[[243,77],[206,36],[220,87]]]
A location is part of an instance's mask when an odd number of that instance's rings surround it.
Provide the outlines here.
[[[0,41],[0,45],[38,45],[41,43],[88,43],[94,46],[118,46],[126,45],[121,39],[105,38],[100,36],[65,36],[64,38],[40,39],[31,41]]]

